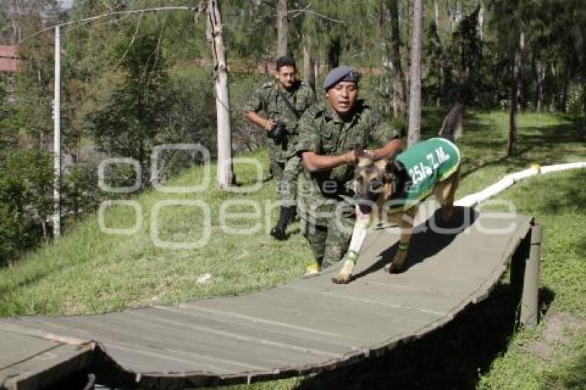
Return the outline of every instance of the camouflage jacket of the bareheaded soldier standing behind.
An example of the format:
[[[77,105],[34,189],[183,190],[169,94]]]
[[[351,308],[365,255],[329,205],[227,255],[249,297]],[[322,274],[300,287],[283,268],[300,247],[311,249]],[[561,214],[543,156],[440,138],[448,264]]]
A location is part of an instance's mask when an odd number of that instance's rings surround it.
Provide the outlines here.
[[[244,111],[263,112],[266,119],[280,119],[285,123],[288,133],[285,142],[281,145],[275,145],[272,138],[267,139],[270,158],[285,162],[287,158],[293,155],[293,148],[298,140],[297,125],[299,119],[279,96],[277,88],[278,85],[273,81],[264,83],[262,88],[252,94],[250,101],[244,106]],[[312,88],[302,81],[297,81],[291,91],[283,92],[300,116],[315,102],[315,94]]]

